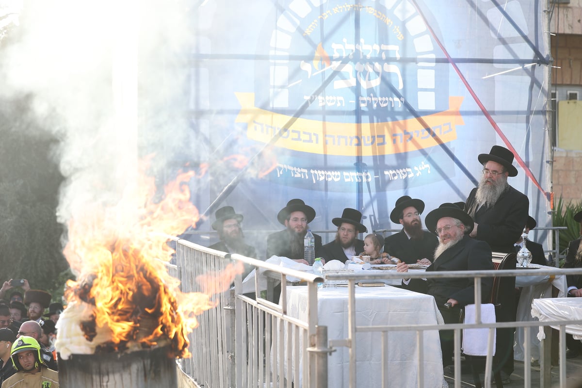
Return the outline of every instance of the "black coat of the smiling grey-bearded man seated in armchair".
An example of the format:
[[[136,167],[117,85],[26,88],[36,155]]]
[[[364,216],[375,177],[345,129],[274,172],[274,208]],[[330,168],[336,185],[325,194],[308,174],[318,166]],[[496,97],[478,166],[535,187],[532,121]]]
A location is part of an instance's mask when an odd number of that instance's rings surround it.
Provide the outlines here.
[[[469,236],[464,236],[461,241],[444,251],[427,268],[427,272],[485,269],[493,269],[491,248],[483,241],[473,240]],[[493,279],[490,277],[481,279],[481,302],[489,301],[492,286]],[[460,307],[475,302],[475,287],[472,278],[411,279],[410,283],[407,286],[404,285],[404,287],[434,296],[438,307],[442,307],[449,298],[459,301]]]

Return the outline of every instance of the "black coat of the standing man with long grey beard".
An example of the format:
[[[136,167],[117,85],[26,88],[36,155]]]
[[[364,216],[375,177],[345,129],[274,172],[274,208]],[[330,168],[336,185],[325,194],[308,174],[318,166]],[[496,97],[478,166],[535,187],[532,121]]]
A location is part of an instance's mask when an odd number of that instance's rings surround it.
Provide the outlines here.
[[[472,215],[477,207],[477,188],[471,190],[465,204],[465,211]],[[527,223],[530,201],[526,195],[509,186],[493,207],[481,207],[473,216],[478,223],[475,239],[486,241],[493,252],[514,252],[514,243],[519,240]]]

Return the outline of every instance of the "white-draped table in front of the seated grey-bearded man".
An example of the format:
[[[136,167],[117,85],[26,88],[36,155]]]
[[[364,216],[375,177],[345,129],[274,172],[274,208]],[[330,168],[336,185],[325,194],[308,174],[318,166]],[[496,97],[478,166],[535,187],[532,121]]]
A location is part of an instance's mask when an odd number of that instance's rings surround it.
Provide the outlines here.
[[[328,287],[318,291],[318,320],[328,326],[328,339],[347,338],[347,287]],[[288,314],[307,319],[307,287],[287,287]],[[356,286],[356,325],[435,325],[442,323],[434,298],[396,287]],[[356,334],[357,386],[382,384],[381,333]],[[417,385],[416,332],[391,332],[388,335],[389,360],[384,368],[391,387]],[[443,386],[441,344],[437,330],[424,333],[425,387]],[[349,386],[349,353],[339,347],[328,358],[328,386]]]

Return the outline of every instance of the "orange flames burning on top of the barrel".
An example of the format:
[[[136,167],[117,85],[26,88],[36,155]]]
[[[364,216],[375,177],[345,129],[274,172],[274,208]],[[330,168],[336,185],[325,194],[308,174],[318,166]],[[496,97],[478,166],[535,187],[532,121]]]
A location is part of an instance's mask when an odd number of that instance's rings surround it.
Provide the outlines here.
[[[65,256],[79,276],[69,280],[65,297],[70,305],[92,308],[79,325],[84,339],[100,341],[96,350],[169,344],[172,356],[187,357],[187,333],[198,326],[196,315],[214,307],[212,296],[242,272],[242,265],[229,265],[224,273],[200,279],[204,293],[189,294],[181,293],[178,280],[168,275],[162,261],[172,252],[168,237],[199,218],[188,186],[195,176],[180,173],[155,201],[154,180],[141,175],[136,190],[128,190],[115,207],[86,209],[83,217],[70,221]]]

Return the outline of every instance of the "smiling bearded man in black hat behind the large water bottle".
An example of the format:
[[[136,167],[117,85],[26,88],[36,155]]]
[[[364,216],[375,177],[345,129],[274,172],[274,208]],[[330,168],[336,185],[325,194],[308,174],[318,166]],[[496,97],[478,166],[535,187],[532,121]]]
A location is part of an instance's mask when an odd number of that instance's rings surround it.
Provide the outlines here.
[[[309,223],[315,218],[315,210],[297,198],[287,202],[277,215],[277,220],[285,229],[267,236],[267,258],[272,255],[288,257],[297,262],[308,264],[304,257],[304,238]],[[315,238],[315,257],[320,257],[321,236]]]

